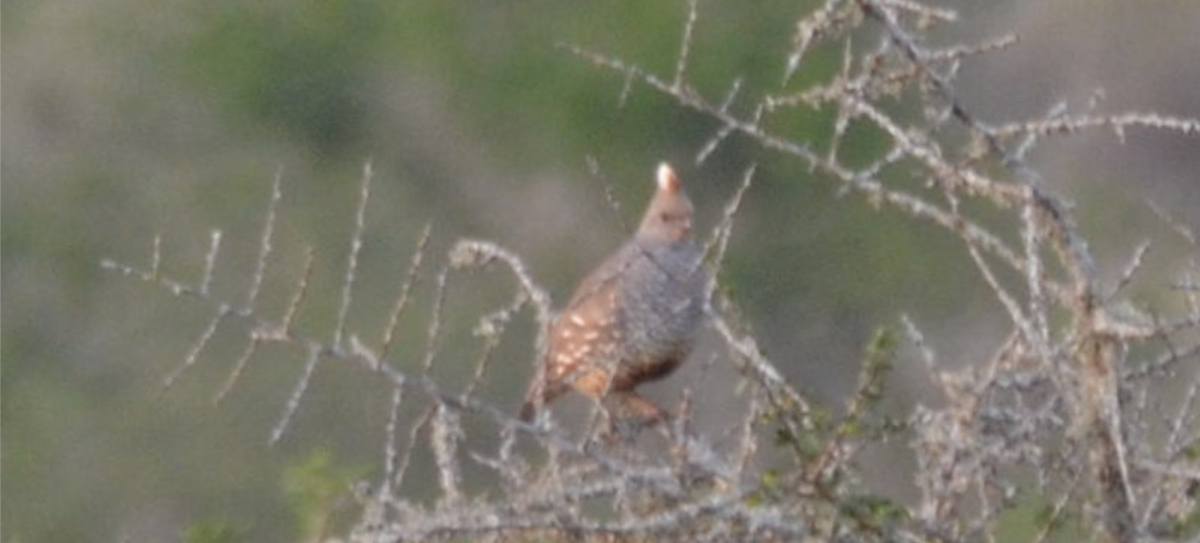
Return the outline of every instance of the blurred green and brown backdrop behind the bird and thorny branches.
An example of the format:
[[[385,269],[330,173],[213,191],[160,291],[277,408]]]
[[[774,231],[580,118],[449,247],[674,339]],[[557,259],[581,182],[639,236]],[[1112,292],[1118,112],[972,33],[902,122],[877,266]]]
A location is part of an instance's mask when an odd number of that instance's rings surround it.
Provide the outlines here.
[[[776,91],[794,20],[814,4],[702,0],[692,84],[715,101],[740,77],[742,106]],[[1098,86],[1100,111],[1200,117],[1195,2],[944,4],[964,22],[936,31],[935,44],[1022,36],[964,67],[964,100],[986,119],[1036,117],[1060,100],[1085,111]],[[702,226],[760,163],[722,280],[768,354],[820,401],[845,395],[871,330],[901,311],[928,328],[947,364],[992,347],[1003,314],[950,237],[838,197],[803,165],[738,138],[697,167],[713,121],[640,86],[620,105],[620,76],[558,47],[668,74],[684,16],[683,1],[634,0],[4,2],[0,539],[282,542],[347,514],[344,483],[378,466],[385,387],[355,368],[322,365],[292,431],[268,447],[300,354],[262,350],[214,405],[245,341],[236,326],[222,327],[160,395],[208,314],[98,267],[104,257],[144,264],[157,233],[163,270],[194,280],[209,232],[221,228],[215,288],[241,299],[278,168],[284,197],[264,308],[282,310],[312,245],[299,326],[319,336],[331,334],[366,161],[377,177],[350,328],[373,341],[425,223],[431,267],[456,238],[487,238],[526,258],[560,298],[628,233],[654,166],[667,160]],[[818,47],[788,86],[829,76],[840,55],[840,46]],[[794,112],[775,127],[820,148],[830,121],[828,111]],[[847,160],[880,153],[877,133],[851,132]],[[1196,138],[1132,132],[1122,144],[1098,133],[1051,143],[1034,160],[1079,204],[1106,276],[1140,239],[1156,239],[1159,272],[1134,293],[1169,304],[1150,293],[1177,269],[1182,245],[1144,199],[1200,222]],[[402,323],[397,365],[419,363],[428,285]],[[454,279],[439,380],[466,380],[478,352],[469,329],[510,288],[502,274]],[[527,324],[508,336],[485,398],[516,406],[529,338]],[[900,371],[893,392],[902,406],[925,387]],[[719,428],[721,410],[708,411]],[[900,494],[911,483],[888,477]],[[406,491],[425,494],[430,479],[410,479]]]

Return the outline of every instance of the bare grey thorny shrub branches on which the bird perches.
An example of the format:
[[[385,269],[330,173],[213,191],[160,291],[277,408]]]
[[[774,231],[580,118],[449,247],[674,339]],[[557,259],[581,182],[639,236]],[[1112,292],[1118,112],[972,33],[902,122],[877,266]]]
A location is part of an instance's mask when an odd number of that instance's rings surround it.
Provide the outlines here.
[[[842,46],[841,70],[800,91],[763,93],[749,106],[738,103],[752,94],[742,78],[734,79],[719,101],[709,101],[689,83],[688,68],[697,61],[692,41],[703,31],[696,1],[688,2],[677,62],[667,77],[565,46],[622,74],[619,103],[641,85],[714,120],[718,127],[698,149],[697,163],[730,138],[743,137],[763,150],[798,159],[820,179],[860,195],[877,208],[936,225],[962,243],[996,306],[1008,316],[1010,330],[988,357],[952,370],[941,365],[935,346],[916,322],[904,316],[905,336],[941,395],[938,404],[917,406],[907,417],[875,412],[893,357],[890,341],[884,341],[889,335],[882,334],[872,344],[858,392],[845,416],[830,426],[824,410],[806,400],[763,354],[736,317],[734,302],[714,281],[706,310],[745,378],[745,413],[737,431],[728,432],[734,443],[715,444],[690,424],[692,404],[702,401],[690,393],[684,395],[679,417],[656,437],[667,440],[671,453],[664,455],[622,443],[577,440],[552,417],[539,425],[524,424],[509,410],[482,400],[480,383],[493,350],[520,315],[527,312],[538,330],[534,351],[545,348],[552,305],[517,255],[485,240],[460,240],[446,253],[433,280],[427,346],[419,371],[403,371],[388,357],[424,269],[431,229],[426,227],[419,237],[380,346],[367,346],[348,330],[347,315],[362,250],[370,165],[364,171],[331,340],[294,328],[310,288],[312,249],[283,315],[269,317],[257,305],[274,252],[282,172],[271,187],[258,259],[244,302],[229,302],[210,288],[220,256],[218,231],[211,234],[202,279],[194,286],[162,274],[157,237],[148,269],[112,261],[104,261],[103,267],[211,310],[208,324],[182,363],[168,374],[164,388],[198,363],[224,324],[240,324],[248,342],[217,399],[232,390],[259,344],[288,344],[305,353],[300,377],[271,430],[272,443],[302,416],[300,406],[322,363],[350,363],[391,387],[383,477],[378,491],[362,503],[362,519],[350,533],[353,541],[508,535],[550,541],[990,541],[1006,514],[1031,502],[1046,505],[1034,541],[1046,541],[1063,530],[1068,518],[1096,526],[1087,536],[1099,541],[1194,537],[1188,523],[1195,525],[1200,518],[1194,490],[1200,487],[1195,460],[1200,457],[1200,381],[1195,371],[1200,360],[1200,290],[1195,288],[1200,268],[1193,257],[1184,263],[1180,281],[1168,287],[1186,302],[1177,315],[1150,318],[1132,314],[1126,309],[1124,287],[1146,268],[1150,241],[1135,247],[1115,285],[1103,288],[1072,207],[1054,195],[1051,183],[1026,157],[1050,137],[1110,130],[1123,141],[1129,129],[1195,137],[1200,121],[1156,113],[1073,115],[1061,105],[1031,120],[984,121],[958,95],[959,68],[978,55],[1014,47],[1018,40],[1002,36],[944,48],[926,44],[926,29],[955,20],[953,11],[912,0],[826,0],[797,20],[791,50],[781,58],[784,80],[804,70],[809,52],[820,42]],[[850,36],[859,29],[876,32],[874,48],[854,47]],[[904,89],[917,90],[916,100],[928,112],[923,119],[905,120],[908,117],[895,113],[894,100],[882,100],[900,96]],[[768,129],[766,123],[794,108],[824,107],[836,109],[828,142],[802,141]],[[743,111],[750,113],[738,113]],[[888,138],[887,151],[865,166],[842,162],[838,150],[850,137],[850,123],[878,129]],[[966,141],[948,136],[950,124],[965,129]],[[826,147],[824,153],[817,150],[821,147]],[[599,177],[594,161],[589,163]],[[928,180],[940,202],[890,183],[901,172]],[[734,216],[752,178],[751,167],[706,244],[704,263],[712,267],[713,276],[719,275]],[[606,195],[613,203],[607,187]],[[988,204],[1008,222],[984,226],[980,217],[964,210],[961,202],[967,199]],[[1193,251],[1200,251],[1192,227],[1157,207],[1154,213]],[[1018,245],[1009,240],[1018,240]],[[443,303],[451,293],[448,285],[454,274],[491,268],[511,274],[515,293],[510,303],[480,317],[475,334],[481,350],[474,371],[461,390],[452,390],[430,376],[442,357]],[[1010,279],[1014,276],[1019,280]],[[1192,381],[1174,408],[1156,404],[1171,401],[1157,398],[1156,387],[1180,377]],[[424,405],[422,414],[404,420],[402,404],[412,401]],[[466,419],[486,422],[497,440],[481,446],[467,434]],[[917,465],[912,483],[919,497],[906,503],[874,495],[856,464],[858,450],[896,432],[910,440]],[[422,435],[427,442],[421,441]],[[776,444],[794,453],[792,465],[768,458],[766,453],[775,448],[772,435]],[[418,447],[427,447],[433,455],[439,491],[432,505],[421,505],[416,499],[422,496],[406,496],[401,488]],[[497,494],[467,490],[464,459],[500,481]],[[1013,476],[1022,470],[1033,473],[1036,484]]]

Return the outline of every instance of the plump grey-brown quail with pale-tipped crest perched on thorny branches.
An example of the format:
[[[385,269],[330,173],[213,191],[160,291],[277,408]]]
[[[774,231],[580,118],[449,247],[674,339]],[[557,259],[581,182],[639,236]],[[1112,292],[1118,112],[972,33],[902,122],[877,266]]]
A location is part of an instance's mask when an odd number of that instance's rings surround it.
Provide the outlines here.
[[[580,282],[551,323],[541,370],[521,407],[523,420],[571,389],[616,400],[618,417],[661,419],[662,410],[635,388],[674,371],[702,322],[709,279],[691,220],[683,184],[670,165],[660,165],[632,239]]]

